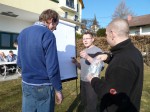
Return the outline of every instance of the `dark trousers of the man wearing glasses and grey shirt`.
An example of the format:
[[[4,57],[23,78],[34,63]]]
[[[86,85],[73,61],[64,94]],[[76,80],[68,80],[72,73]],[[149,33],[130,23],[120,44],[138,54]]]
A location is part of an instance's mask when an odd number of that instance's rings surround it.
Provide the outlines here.
[[[81,105],[84,112],[97,112],[98,98],[89,82],[80,81]]]

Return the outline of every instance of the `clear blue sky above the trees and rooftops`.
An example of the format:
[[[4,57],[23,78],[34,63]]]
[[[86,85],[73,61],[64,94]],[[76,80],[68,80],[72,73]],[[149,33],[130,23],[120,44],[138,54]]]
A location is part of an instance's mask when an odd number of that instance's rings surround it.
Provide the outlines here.
[[[83,0],[82,19],[94,19],[95,15],[100,27],[105,28],[120,2],[121,0]],[[150,0],[125,0],[125,3],[135,16],[150,14]]]

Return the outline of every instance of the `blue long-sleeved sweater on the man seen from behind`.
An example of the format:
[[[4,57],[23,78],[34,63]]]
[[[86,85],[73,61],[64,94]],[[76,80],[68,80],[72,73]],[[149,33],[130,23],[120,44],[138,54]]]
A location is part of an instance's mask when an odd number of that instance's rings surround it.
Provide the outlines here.
[[[56,39],[45,26],[33,25],[20,33],[17,64],[22,69],[23,82],[62,89]]]

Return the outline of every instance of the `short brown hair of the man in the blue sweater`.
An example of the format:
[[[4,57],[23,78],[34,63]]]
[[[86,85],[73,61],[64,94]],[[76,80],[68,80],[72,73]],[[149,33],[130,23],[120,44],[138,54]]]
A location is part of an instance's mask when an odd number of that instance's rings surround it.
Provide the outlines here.
[[[47,9],[44,10],[41,15],[39,16],[39,21],[47,21],[49,19],[53,19],[54,23],[59,22],[59,15],[56,11]]]

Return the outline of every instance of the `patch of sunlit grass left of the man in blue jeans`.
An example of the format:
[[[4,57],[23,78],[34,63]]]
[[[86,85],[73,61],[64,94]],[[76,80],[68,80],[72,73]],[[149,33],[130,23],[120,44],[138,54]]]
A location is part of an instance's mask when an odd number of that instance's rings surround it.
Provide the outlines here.
[[[21,112],[21,80],[0,83],[0,112]]]

